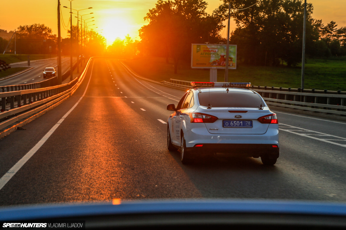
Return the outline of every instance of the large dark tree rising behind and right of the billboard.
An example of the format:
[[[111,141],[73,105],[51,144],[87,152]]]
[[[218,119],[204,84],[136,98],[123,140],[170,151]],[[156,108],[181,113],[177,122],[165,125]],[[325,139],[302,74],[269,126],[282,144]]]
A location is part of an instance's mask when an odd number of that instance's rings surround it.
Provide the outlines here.
[[[265,57],[272,65],[280,60],[288,66],[301,61],[304,11],[301,0],[224,0],[215,14],[226,18],[229,2],[233,9],[244,9],[232,10],[230,15],[237,24],[231,41],[238,45],[238,55],[245,63],[263,65]],[[312,4],[307,4],[307,44],[318,40],[312,10]]]

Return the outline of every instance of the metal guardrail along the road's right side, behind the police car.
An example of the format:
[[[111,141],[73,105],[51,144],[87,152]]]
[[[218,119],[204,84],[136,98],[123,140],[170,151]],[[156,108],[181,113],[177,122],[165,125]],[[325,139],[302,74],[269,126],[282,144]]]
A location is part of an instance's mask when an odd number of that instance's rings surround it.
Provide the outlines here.
[[[177,88],[189,89],[189,81],[170,79],[163,84]],[[252,86],[268,105],[303,109],[315,112],[326,112],[346,116],[346,92],[314,89],[291,89],[277,87]]]

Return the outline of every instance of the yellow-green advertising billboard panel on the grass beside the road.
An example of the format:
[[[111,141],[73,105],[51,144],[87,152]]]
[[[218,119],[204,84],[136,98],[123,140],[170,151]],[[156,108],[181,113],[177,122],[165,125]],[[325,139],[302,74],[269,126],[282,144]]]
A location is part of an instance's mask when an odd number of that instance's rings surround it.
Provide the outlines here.
[[[229,69],[237,67],[237,45],[229,45]],[[192,44],[191,68],[225,69],[225,44]]]

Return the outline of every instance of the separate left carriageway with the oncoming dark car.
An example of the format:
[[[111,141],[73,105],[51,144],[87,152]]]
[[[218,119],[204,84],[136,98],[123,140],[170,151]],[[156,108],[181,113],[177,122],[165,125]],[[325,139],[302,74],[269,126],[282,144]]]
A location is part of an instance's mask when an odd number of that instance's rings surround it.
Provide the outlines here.
[[[75,62],[76,60],[77,58],[73,58],[73,62]],[[64,73],[70,68],[70,57],[61,58],[61,65],[62,65],[62,73]],[[28,64],[25,63],[25,64],[12,65],[12,68],[15,68],[15,67],[28,67]],[[35,83],[35,82],[47,80],[46,78],[43,78],[43,70],[46,67],[54,67],[55,70],[57,70],[56,58],[52,58],[51,60],[44,59],[40,61],[30,62],[30,67],[34,67],[34,69],[31,69],[27,72],[24,72],[22,74],[19,74],[7,80],[0,79],[0,86],[29,84],[29,83]]]

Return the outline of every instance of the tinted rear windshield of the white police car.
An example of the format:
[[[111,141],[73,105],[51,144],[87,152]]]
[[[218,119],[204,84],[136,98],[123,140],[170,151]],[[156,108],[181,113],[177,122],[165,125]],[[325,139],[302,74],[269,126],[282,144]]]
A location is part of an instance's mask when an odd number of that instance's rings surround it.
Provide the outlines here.
[[[199,104],[201,106],[210,105],[215,107],[245,107],[257,108],[262,102],[261,96],[256,93],[247,92],[202,92],[198,94]]]

